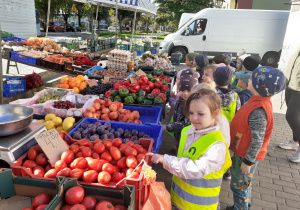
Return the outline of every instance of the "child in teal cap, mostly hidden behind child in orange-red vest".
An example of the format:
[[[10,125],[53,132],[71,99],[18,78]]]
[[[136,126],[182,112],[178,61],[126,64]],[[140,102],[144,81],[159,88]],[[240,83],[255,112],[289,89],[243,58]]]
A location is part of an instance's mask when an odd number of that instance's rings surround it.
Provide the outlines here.
[[[248,82],[249,79],[251,79],[252,77],[252,72],[251,71],[236,72],[235,76],[236,79],[238,80],[237,83],[238,87],[242,89],[242,91],[240,91],[238,94],[241,100],[241,106],[243,106],[245,103],[249,101],[249,99],[253,95],[253,93],[250,90],[248,90]]]

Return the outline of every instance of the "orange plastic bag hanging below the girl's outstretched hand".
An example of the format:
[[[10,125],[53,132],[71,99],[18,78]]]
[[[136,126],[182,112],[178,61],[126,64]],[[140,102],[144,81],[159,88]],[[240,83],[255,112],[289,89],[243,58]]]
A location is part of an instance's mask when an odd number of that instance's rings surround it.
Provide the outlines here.
[[[142,210],[172,209],[171,195],[163,182],[154,182],[146,186]]]

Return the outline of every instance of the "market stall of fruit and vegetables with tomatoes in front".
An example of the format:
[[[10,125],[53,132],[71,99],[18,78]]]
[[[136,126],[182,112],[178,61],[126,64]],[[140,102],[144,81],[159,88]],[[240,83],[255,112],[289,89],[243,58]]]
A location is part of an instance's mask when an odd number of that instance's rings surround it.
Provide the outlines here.
[[[160,121],[174,85],[166,55],[136,57],[118,49],[97,55],[45,38],[3,44],[7,59],[65,76],[33,97],[0,106],[0,205],[147,209],[156,173],[146,154],[159,151]],[[8,78],[3,94],[43,83],[34,72]]]

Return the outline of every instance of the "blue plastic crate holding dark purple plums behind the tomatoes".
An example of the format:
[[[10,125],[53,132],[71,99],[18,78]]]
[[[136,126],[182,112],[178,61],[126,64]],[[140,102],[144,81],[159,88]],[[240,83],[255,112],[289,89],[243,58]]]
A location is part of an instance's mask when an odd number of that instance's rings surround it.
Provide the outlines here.
[[[95,118],[84,118],[78,125],[76,125],[75,128],[73,128],[69,134],[72,136],[72,134],[80,127],[82,123],[90,122],[90,123],[96,123],[101,122],[102,124],[109,122],[111,124],[111,127],[115,130],[118,128],[129,129],[129,130],[137,130],[137,131],[143,131],[145,134],[148,134],[153,140],[153,152],[158,153],[159,147],[162,142],[162,134],[163,134],[163,126],[162,125],[143,125],[143,124],[134,124],[134,123],[123,123],[123,122],[114,122],[114,121],[103,121],[103,120],[97,120]]]

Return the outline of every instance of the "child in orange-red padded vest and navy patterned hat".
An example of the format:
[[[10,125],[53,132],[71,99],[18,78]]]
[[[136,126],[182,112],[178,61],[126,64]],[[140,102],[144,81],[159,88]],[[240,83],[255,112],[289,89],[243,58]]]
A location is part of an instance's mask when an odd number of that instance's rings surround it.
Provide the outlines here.
[[[255,168],[267,153],[273,131],[273,109],[271,96],[286,87],[286,78],[281,71],[272,67],[259,67],[252,73],[248,89],[253,96],[241,107],[231,122],[230,149],[234,206],[226,210],[248,210]]]

